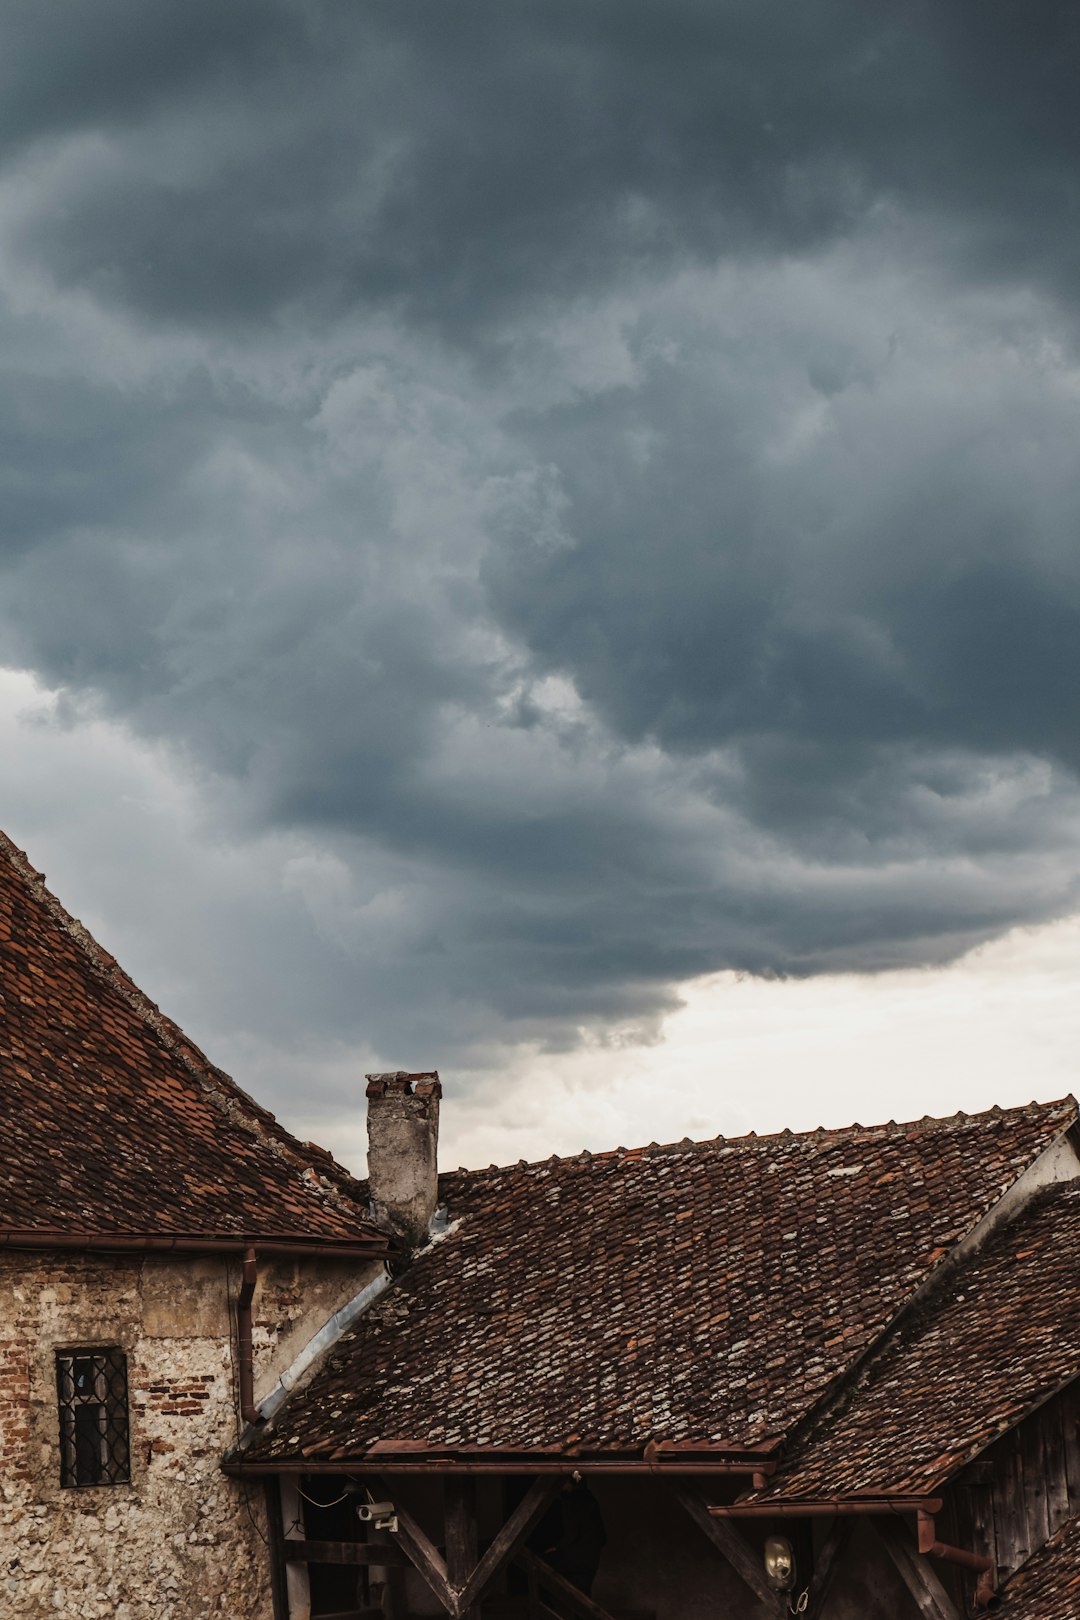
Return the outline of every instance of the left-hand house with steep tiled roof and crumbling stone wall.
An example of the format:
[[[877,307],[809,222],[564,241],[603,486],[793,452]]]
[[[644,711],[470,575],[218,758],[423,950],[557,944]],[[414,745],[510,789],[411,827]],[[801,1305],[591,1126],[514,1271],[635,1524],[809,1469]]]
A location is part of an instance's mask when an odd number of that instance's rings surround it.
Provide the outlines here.
[[[3,838],[0,1145],[0,1615],[270,1615],[220,1458],[389,1238]]]

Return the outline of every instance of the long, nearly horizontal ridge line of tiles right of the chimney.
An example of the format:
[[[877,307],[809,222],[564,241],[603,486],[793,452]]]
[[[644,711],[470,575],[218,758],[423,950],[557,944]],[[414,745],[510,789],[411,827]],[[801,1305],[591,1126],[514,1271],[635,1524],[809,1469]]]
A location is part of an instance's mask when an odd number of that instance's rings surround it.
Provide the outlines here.
[[[622,1160],[638,1160],[638,1158],[657,1158],[665,1153],[685,1155],[698,1153],[704,1155],[709,1152],[717,1152],[721,1149],[743,1149],[755,1152],[759,1147],[766,1147],[777,1140],[805,1142],[813,1140],[821,1145],[827,1145],[832,1140],[873,1140],[882,1136],[915,1136],[931,1131],[957,1129],[963,1126],[981,1126],[988,1121],[997,1119],[1015,1119],[1015,1118],[1033,1118],[1038,1115],[1052,1115],[1061,1110],[1062,1118],[1072,1108],[1074,1115],[1080,1113],[1080,1105],[1077,1098],[1069,1094],[1065,1097],[1056,1097],[1051,1102],[1038,1102],[1031,1098],[1030,1103],[1018,1103],[1014,1108],[1001,1108],[994,1103],[991,1108],[983,1108],[980,1113],[965,1113],[957,1110],[954,1115],[923,1115],[921,1119],[887,1119],[882,1124],[853,1124],[845,1126],[816,1126],[810,1131],[792,1131],[784,1128],[780,1131],[746,1131],[743,1136],[714,1136],[704,1137],[703,1140],[691,1140],[683,1137],[680,1142],[649,1142],[644,1147],[612,1147],[602,1149],[599,1152],[589,1152],[583,1147],[578,1153],[549,1153],[546,1158],[518,1158],[512,1165],[486,1165],[470,1170],[465,1165],[458,1165],[457,1170],[440,1171],[440,1179],[458,1179],[468,1176],[476,1179],[481,1176],[505,1176],[512,1174],[515,1170],[547,1170],[551,1165],[588,1165],[597,1162],[622,1162]]]

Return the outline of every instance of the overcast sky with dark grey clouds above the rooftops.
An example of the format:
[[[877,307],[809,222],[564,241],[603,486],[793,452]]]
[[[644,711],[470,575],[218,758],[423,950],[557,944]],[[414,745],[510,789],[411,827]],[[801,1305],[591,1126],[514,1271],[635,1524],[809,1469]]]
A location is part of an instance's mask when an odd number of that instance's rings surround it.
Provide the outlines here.
[[[6,0],[0,825],[288,1123],[986,1106],[1002,1017],[1069,1089],[1078,62],[1061,0]]]

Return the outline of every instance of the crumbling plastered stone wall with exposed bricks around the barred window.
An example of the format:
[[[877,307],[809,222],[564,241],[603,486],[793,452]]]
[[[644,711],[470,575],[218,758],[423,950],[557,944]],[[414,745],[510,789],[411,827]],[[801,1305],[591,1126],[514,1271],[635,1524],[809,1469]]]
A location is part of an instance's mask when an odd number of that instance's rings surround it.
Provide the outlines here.
[[[262,1262],[256,1398],[376,1265]],[[270,1620],[262,1495],[220,1473],[238,1435],[240,1262],[0,1256],[0,1615]],[[128,1359],[131,1484],[65,1489],[55,1354]]]

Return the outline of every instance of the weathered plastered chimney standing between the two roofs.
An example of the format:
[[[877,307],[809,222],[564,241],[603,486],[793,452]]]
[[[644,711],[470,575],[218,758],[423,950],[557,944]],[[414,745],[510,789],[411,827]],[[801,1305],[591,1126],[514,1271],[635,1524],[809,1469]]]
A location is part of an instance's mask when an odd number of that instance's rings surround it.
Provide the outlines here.
[[[427,1236],[439,1202],[439,1074],[368,1074],[371,1213],[411,1244]]]

